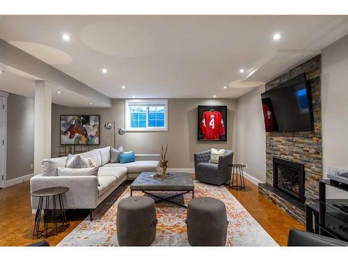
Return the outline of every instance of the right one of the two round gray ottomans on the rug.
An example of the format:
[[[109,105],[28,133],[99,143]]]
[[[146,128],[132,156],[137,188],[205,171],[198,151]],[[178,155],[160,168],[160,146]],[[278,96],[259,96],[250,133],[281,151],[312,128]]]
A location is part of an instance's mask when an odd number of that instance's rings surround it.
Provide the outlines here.
[[[191,246],[225,246],[225,204],[216,198],[195,198],[187,207],[187,237]]]

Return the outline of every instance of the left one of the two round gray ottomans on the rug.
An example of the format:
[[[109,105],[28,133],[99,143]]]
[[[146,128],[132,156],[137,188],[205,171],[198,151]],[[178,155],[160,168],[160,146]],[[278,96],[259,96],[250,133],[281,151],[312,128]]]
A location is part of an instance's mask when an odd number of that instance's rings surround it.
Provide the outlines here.
[[[150,246],[156,236],[155,200],[131,196],[118,203],[116,227],[120,246]]]

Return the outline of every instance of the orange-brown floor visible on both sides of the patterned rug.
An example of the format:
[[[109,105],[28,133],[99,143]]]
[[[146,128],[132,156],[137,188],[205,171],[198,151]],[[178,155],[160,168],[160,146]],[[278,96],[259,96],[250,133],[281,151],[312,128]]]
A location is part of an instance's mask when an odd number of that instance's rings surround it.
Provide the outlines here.
[[[0,246],[26,246],[41,239],[33,237],[34,215],[31,214],[30,184],[24,182],[0,189]],[[258,187],[246,180],[246,190],[228,190],[239,200],[258,223],[280,245],[286,246],[290,228],[304,230],[304,226],[287,215],[276,205],[258,193]],[[67,213],[70,227],[47,242],[56,246],[88,216],[85,210],[70,210]]]

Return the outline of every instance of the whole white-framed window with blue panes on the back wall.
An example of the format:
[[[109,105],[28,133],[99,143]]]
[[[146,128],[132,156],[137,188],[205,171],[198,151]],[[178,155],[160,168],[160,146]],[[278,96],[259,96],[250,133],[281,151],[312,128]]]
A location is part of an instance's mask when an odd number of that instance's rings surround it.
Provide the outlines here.
[[[126,131],[166,131],[167,100],[126,100]]]

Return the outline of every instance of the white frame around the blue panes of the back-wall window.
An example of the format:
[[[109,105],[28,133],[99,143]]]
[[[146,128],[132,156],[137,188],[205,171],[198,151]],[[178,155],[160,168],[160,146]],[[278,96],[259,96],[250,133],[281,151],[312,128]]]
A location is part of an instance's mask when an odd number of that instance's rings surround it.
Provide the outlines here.
[[[129,106],[164,106],[164,127],[132,127]],[[148,125],[148,113],[146,113]],[[125,130],[126,132],[167,132],[168,131],[168,100],[125,100]]]

